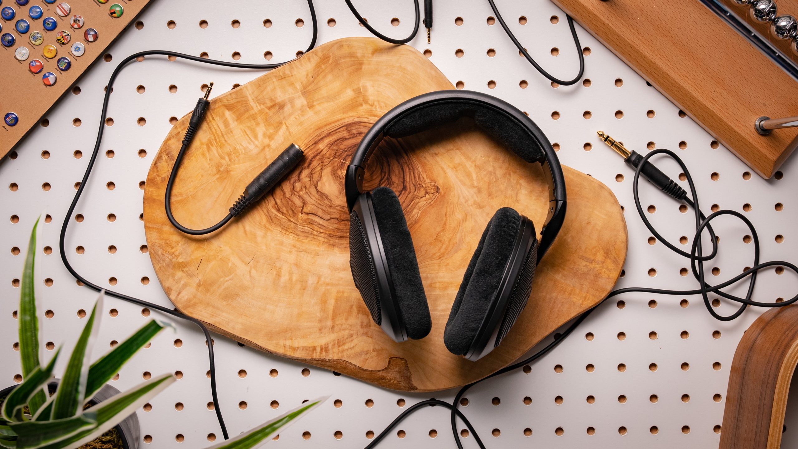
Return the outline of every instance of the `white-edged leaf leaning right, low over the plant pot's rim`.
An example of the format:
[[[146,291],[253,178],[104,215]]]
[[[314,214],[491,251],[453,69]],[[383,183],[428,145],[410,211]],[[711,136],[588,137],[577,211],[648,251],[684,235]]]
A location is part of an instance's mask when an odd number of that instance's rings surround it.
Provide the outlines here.
[[[42,449],[64,449],[65,447],[80,447],[85,443],[89,443],[89,441],[96,439],[106,431],[109,431],[110,428],[122,422],[123,419],[136,411],[137,408],[144,406],[152,397],[164,391],[166,387],[175,381],[176,377],[171,373],[167,373],[160,375],[160,377],[144,381],[136,387],[124,391],[124,393],[113,395],[111,398],[104,400],[84,412],[84,415],[91,413],[91,418],[97,422],[96,427],[84,429],[69,435],[66,439],[59,439],[39,447]],[[30,448],[18,446],[17,449]]]

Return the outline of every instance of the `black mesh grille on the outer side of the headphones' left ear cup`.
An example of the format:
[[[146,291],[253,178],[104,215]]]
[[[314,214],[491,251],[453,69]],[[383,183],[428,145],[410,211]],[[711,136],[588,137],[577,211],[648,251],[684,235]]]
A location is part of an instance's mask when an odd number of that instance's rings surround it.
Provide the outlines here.
[[[350,213],[350,268],[354,285],[360,291],[365,307],[369,308],[371,318],[377,325],[382,324],[377,270],[374,268],[374,260],[369,250],[369,240],[355,211]]]

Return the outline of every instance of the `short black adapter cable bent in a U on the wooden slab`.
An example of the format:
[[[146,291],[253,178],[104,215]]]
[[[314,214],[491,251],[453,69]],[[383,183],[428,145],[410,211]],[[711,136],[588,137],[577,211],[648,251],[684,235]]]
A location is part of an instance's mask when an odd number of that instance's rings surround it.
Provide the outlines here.
[[[175,185],[175,177],[177,176],[177,171],[180,169],[180,162],[183,161],[186,150],[188,146],[191,145],[192,140],[194,140],[194,134],[205,119],[207,108],[211,105],[211,101],[207,99],[211,94],[211,89],[213,89],[213,81],[207,86],[205,95],[199,97],[194,107],[192,117],[188,121],[188,129],[183,137],[183,145],[180,146],[180,152],[177,153],[177,157],[175,158],[175,165],[172,165],[172,172],[169,173],[169,179],[166,182],[166,193],[164,194],[164,209],[166,209],[166,217],[169,219],[169,222],[180,232],[192,236],[202,236],[214,232],[227,224],[228,221],[231,221],[233,217],[238,217],[243,213],[244,209],[255,204],[263,195],[266,195],[266,193],[273,189],[279,181],[282,181],[282,178],[286,177],[286,175],[302,161],[302,158],[305,157],[304,153],[302,153],[302,149],[297,145],[288,145],[288,148],[283,150],[266,169],[263,169],[263,171],[247,185],[247,189],[244,189],[244,193],[230,206],[230,212],[227,213],[227,216],[210,228],[190,229],[178,223],[176,218],[172,215],[172,187]]]

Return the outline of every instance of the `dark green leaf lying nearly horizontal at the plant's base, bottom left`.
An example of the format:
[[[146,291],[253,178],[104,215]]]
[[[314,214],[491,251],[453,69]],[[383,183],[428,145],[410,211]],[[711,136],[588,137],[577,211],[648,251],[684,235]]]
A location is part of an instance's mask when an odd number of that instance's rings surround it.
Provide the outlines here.
[[[9,423],[9,427],[17,434],[17,449],[36,449],[96,428],[97,421],[94,419],[93,411],[86,411],[82,415],[65,419]]]

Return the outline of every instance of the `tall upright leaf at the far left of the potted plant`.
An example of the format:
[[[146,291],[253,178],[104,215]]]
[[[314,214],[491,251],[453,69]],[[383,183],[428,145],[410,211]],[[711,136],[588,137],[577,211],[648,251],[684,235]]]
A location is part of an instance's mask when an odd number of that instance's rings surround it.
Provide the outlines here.
[[[41,365],[39,361],[39,321],[36,317],[36,294],[34,292],[34,262],[36,260],[36,228],[39,219],[36,219],[34,228],[30,231],[28,240],[28,253],[25,256],[25,266],[22,268],[22,284],[19,294],[19,356],[22,360],[22,375],[27,377],[34,369]],[[47,396],[44,391],[31,399],[29,407],[31,412],[36,412]]]

